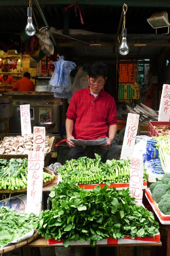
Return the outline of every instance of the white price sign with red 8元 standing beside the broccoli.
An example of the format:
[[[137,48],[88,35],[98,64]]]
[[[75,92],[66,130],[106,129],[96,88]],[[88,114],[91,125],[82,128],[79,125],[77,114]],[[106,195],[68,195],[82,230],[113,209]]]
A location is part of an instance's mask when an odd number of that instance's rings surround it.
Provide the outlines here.
[[[142,205],[143,197],[143,159],[131,157],[130,159],[130,183],[131,197],[134,197],[137,205]]]

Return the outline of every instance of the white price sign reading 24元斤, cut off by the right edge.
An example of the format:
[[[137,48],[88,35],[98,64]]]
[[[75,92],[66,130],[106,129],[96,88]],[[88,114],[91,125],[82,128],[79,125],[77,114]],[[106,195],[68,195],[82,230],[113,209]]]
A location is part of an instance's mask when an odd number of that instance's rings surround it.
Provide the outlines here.
[[[164,84],[159,107],[158,121],[169,121],[170,118],[170,85]]]

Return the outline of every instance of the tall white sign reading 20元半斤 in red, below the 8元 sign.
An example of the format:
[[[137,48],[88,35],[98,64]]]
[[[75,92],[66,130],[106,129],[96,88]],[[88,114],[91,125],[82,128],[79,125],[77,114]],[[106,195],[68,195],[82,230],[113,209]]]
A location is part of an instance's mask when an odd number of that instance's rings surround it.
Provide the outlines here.
[[[43,185],[44,153],[28,153],[27,213],[38,214],[41,211]]]

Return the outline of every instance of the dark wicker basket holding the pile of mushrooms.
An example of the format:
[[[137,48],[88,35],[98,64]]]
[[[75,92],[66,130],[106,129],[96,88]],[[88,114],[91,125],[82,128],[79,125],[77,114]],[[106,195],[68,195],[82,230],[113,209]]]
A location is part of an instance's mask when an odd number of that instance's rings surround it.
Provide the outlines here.
[[[16,137],[18,135],[21,135],[21,133],[2,133],[0,134],[0,139],[1,141],[3,141],[4,137]],[[54,148],[55,148],[55,142],[56,142],[56,136],[52,133],[47,133],[47,135],[49,136],[49,139],[54,137],[54,140],[52,142],[52,145],[51,145],[51,149],[48,153],[46,153],[45,155],[51,153],[52,151],[54,151]],[[10,160],[11,158],[21,158],[21,159],[24,159],[24,158],[28,158],[28,155],[5,155],[5,154],[0,154],[0,159],[7,159],[7,160]]]

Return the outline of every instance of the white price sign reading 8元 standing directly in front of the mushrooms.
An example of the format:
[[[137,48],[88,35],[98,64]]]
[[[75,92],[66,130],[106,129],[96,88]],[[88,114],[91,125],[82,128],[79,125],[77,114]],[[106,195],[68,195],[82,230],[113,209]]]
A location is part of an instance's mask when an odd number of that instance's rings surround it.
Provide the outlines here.
[[[45,151],[45,127],[34,126],[33,151]]]

